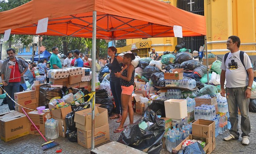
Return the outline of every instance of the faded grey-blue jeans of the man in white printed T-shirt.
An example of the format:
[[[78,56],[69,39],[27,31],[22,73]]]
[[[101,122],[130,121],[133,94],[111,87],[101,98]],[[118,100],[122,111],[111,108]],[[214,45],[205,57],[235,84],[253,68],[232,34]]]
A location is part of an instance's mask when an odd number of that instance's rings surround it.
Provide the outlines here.
[[[230,114],[230,134],[234,135],[236,139],[239,138],[238,133],[238,108],[241,113],[241,130],[242,137],[248,136],[251,132],[251,124],[249,119],[249,101],[250,99],[245,98],[245,91],[247,86],[239,88],[226,88],[226,94],[228,96],[228,110]]]

